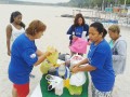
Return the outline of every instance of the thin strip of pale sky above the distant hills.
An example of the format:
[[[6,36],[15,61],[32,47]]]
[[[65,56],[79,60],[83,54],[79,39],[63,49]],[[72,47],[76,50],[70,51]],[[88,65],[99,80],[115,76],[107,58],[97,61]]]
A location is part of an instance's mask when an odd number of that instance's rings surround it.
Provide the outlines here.
[[[31,2],[43,2],[43,3],[58,3],[58,2],[68,2],[69,0],[16,0],[16,1],[31,1]]]

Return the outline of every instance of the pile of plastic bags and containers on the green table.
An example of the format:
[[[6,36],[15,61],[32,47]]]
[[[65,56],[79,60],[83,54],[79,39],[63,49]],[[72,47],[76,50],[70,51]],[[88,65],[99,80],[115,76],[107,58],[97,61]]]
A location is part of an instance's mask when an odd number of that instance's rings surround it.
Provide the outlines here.
[[[55,51],[40,67],[40,71],[47,74],[48,91],[54,91],[55,95],[61,96],[64,87],[66,87],[70,95],[80,95],[82,85],[86,83],[86,74],[84,72],[72,73],[70,69],[83,57],[80,55],[70,57],[65,54],[64,60],[57,58],[60,57],[57,51]]]

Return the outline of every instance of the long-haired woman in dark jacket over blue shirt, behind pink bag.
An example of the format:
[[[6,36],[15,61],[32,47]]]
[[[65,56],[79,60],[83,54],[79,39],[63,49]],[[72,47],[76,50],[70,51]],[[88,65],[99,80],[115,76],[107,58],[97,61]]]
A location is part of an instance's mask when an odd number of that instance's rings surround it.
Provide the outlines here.
[[[84,18],[81,13],[77,14],[74,24],[69,27],[67,34],[69,34],[69,45],[72,45],[73,40],[76,38],[82,38],[88,37],[89,31],[89,25],[86,24]],[[74,55],[76,52],[72,52],[72,55]]]

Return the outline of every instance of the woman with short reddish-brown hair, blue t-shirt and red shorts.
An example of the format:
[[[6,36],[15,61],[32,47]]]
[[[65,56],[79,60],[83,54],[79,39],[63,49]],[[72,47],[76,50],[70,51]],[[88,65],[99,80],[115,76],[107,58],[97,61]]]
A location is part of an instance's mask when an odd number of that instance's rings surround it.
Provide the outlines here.
[[[37,48],[35,40],[41,38],[46,25],[40,20],[32,20],[26,32],[17,37],[11,50],[9,79],[13,83],[13,97],[27,97],[29,94],[29,73],[34,66],[42,63],[51,53],[42,53]]]

